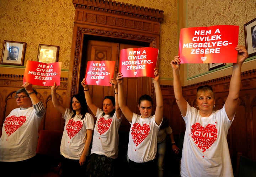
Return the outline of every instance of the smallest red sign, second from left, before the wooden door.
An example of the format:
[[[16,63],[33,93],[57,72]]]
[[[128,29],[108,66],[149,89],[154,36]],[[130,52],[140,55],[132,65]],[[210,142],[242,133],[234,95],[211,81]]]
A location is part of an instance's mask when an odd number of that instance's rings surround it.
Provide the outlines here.
[[[88,61],[85,84],[112,86],[109,81],[114,76],[115,61]]]

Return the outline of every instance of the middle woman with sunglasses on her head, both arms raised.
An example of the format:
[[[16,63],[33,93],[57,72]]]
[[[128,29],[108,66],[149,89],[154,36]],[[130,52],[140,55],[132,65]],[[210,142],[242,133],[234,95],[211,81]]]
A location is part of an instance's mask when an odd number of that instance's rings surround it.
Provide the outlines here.
[[[119,134],[123,115],[118,105],[118,85],[114,79],[114,95],[105,96],[103,107],[98,108],[93,102],[85,78],[81,84],[84,87],[85,98],[92,113],[97,117],[91,149],[91,177],[113,177],[114,162],[118,156]]]

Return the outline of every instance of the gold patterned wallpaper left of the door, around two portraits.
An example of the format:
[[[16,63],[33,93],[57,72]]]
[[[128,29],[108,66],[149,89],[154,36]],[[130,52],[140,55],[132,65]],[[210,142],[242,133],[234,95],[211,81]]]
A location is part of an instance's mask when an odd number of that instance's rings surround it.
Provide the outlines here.
[[[37,60],[38,45],[58,45],[69,69],[75,8],[72,0],[0,0],[0,53],[4,40],[26,42],[25,62]]]

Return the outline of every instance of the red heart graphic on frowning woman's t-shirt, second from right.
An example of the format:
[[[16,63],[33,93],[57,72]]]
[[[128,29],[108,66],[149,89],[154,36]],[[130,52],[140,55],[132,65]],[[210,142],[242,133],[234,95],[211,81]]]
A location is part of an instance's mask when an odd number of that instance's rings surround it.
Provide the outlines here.
[[[133,142],[138,146],[149,134],[150,127],[147,124],[142,126],[139,123],[135,123],[132,126],[132,139]]]

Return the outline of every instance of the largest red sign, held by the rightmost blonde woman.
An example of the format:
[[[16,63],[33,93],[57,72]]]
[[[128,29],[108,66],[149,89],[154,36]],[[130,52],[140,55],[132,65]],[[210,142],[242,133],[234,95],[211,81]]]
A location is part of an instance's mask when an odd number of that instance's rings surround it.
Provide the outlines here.
[[[182,28],[178,55],[181,63],[236,63],[239,26]]]

